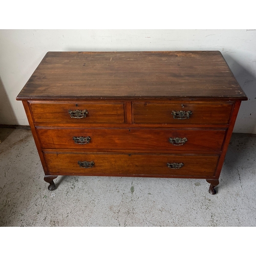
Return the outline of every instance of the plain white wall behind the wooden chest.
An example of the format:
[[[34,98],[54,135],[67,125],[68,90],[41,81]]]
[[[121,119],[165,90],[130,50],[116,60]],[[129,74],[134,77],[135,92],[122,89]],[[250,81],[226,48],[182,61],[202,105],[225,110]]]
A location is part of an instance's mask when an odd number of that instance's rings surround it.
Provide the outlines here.
[[[256,30],[0,30],[0,123],[27,125],[15,97],[48,51],[219,50],[249,100],[234,132],[256,134]]]

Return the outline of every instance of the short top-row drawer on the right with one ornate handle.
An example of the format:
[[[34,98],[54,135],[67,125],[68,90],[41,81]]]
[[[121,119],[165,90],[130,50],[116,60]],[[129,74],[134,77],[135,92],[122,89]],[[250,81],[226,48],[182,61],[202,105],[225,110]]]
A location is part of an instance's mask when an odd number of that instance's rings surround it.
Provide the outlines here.
[[[133,123],[228,124],[233,104],[133,102]]]

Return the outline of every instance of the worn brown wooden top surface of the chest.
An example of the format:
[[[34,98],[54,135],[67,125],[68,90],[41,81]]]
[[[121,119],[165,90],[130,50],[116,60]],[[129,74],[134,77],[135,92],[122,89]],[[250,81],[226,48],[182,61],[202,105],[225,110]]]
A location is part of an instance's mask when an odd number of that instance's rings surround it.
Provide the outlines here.
[[[247,99],[219,51],[48,52],[17,100],[212,97]]]

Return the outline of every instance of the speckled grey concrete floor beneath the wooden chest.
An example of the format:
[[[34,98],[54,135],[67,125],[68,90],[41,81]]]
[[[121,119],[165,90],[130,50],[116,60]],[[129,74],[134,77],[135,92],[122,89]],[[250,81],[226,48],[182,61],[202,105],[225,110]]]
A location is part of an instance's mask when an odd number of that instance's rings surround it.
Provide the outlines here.
[[[217,194],[199,179],[59,176],[30,130],[0,129],[0,226],[256,226],[256,136],[233,134]]]

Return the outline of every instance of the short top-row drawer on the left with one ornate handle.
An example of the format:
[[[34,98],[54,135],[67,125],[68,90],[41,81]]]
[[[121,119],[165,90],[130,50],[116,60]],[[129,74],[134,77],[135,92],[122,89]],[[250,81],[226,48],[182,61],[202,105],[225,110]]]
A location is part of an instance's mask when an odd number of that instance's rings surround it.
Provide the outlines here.
[[[34,122],[124,123],[124,103],[30,102]]]

